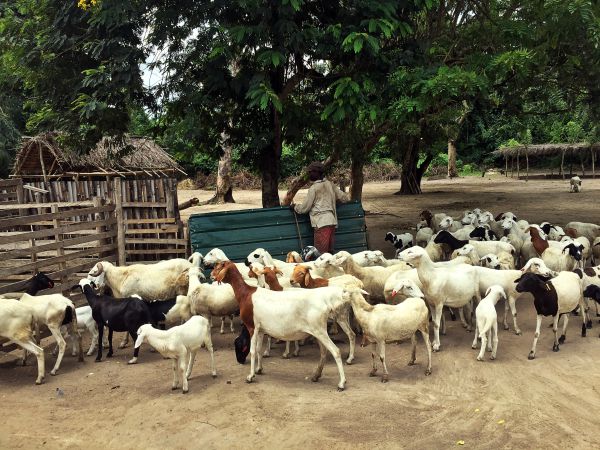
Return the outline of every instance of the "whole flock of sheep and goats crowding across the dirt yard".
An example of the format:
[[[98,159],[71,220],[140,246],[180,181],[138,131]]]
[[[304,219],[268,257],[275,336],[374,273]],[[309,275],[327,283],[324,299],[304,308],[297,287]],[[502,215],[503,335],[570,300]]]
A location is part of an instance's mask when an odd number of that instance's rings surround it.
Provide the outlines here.
[[[420,219],[415,236],[387,233],[385,240],[397,249],[395,259],[386,259],[379,250],[319,255],[310,249],[303,252],[304,258],[292,251],[286,261],[280,261],[259,248],[244,263],[234,263],[215,248],[204,256],[194,253],[189,260],[152,265],[117,267],[98,262],[74,286],[88,302],[80,308],[60,294],[35,295],[53,285],[44,274],[37,274],[25,293],[7,295],[12,298],[0,301],[0,336],[25,350],[23,362],[27,352],[36,356],[39,384],[45,375],[44,351],[33,340],[33,331],[40,324],[49,328],[57,342],[52,375],[66,349],[63,334],[69,335],[73,354],[78,353],[82,360],[81,333],[89,330],[92,339],[87,354],[97,351],[96,361],[100,361],[105,345],[107,357],[113,354],[113,332],[126,332],[134,342],[129,363],[137,362],[140,346],[147,342],[173,359],[172,388],[181,385],[186,393],[201,347],[208,350],[211,373],[216,376],[213,316],[221,318],[223,333],[226,319],[234,330],[233,316],[239,313],[243,325],[235,340],[236,357],[243,363],[250,356],[248,382],[262,372],[262,358],[270,354],[271,338],[286,341],[283,356],[287,358],[292,341],[297,356],[299,341],[312,337],[321,357],[311,379],[318,381],[326,355],[331,353],[339,372],[338,390],[345,388],[346,378],[340,350],[329,337],[328,322],[348,337],[347,364],[354,360],[355,331],[362,334],[363,344],[372,343],[370,375],[376,375],[379,360],[384,382],[389,377],[386,344],[410,339],[409,364],[414,364],[417,331],[428,355],[425,373],[431,373],[432,350],[440,350],[440,331],[445,334],[445,307],[450,314],[459,314],[467,330],[475,329],[472,346],[477,348],[481,340],[480,361],[486,349],[491,351],[491,359],[497,356],[496,304],[500,300],[505,305],[504,328],[509,329],[510,310],[514,331],[521,334],[516,301],[525,296],[533,299],[537,323],[529,359],[535,358],[543,316],[553,317],[554,351],[564,342],[569,316],[576,310],[582,318],[582,336],[586,335],[591,327],[587,300],[595,300],[596,314],[600,301],[600,266],[593,267],[600,257],[600,226],[533,224],[510,212],[494,216],[480,209],[465,211],[459,218],[425,210]],[[203,267],[212,268],[212,283],[204,279]],[[160,329],[163,322],[179,325]],[[107,344],[103,342],[105,327]],[[125,345],[126,339],[121,347]]]

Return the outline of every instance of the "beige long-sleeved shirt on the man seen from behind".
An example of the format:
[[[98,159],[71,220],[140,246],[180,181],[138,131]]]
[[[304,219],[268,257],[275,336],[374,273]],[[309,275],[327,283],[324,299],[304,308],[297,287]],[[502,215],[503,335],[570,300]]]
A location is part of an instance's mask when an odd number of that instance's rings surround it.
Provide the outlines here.
[[[315,181],[308,189],[306,199],[301,205],[296,205],[294,210],[298,214],[309,212],[310,224],[313,228],[337,226],[336,201],[347,202],[348,194],[334,186],[327,178]]]

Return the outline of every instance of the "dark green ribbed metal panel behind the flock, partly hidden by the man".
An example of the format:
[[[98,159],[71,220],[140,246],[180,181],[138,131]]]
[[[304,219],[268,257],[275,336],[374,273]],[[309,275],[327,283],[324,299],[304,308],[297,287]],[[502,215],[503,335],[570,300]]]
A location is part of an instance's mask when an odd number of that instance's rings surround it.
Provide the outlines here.
[[[338,206],[335,249],[350,253],[368,249],[365,211],[360,202]],[[189,219],[192,252],[206,254],[217,247],[240,262],[258,247],[274,258],[285,259],[289,251],[313,245],[308,215],[295,215],[289,208],[261,208],[194,214]]]

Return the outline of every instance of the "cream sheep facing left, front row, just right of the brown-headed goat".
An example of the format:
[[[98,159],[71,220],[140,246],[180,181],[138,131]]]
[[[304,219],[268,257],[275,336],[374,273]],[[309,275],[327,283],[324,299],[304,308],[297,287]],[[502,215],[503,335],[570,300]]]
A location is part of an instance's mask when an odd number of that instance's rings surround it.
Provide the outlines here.
[[[421,333],[427,349],[427,368],[425,375],[431,375],[431,344],[429,342],[429,310],[423,299],[421,290],[409,280],[401,280],[396,285],[397,291],[404,292],[408,298],[398,305],[370,305],[361,295],[359,289],[344,293],[354,311],[354,316],[363,329],[365,337],[373,343],[371,357],[373,368],[369,376],[377,373],[375,355],[379,356],[383,366],[381,381],[389,380],[389,372],[385,362],[385,344],[410,338],[412,343],[409,366],[415,364],[417,350],[417,330]]]

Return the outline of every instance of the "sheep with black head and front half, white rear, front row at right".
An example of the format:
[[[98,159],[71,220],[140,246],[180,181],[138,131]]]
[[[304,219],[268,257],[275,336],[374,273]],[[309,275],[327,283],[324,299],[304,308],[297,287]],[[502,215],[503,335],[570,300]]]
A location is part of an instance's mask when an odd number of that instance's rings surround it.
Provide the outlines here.
[[[517,292],[530,292],[533,295],[533,304],[537,312],[537,321],[533,345],[529,352],[528,359],[535,358],[535,351],[540,329],[542,326],[542,316],[552,316],[552,330],[554,331],[554,345],[552,350],[559,351],[559,344],[564,343],[567,324],[569,323],[569,313],[577,305],[581,308],[583,325],[581,336],[586,335],[586,314],[583,303],[583,292],[579,277],[572,272],[560,272],[556,278],[548,279],[533,273],[524,273],[515,280],[517,283]],[[558,320],[563,316],[563,330],[560,338],[558,337]]]

